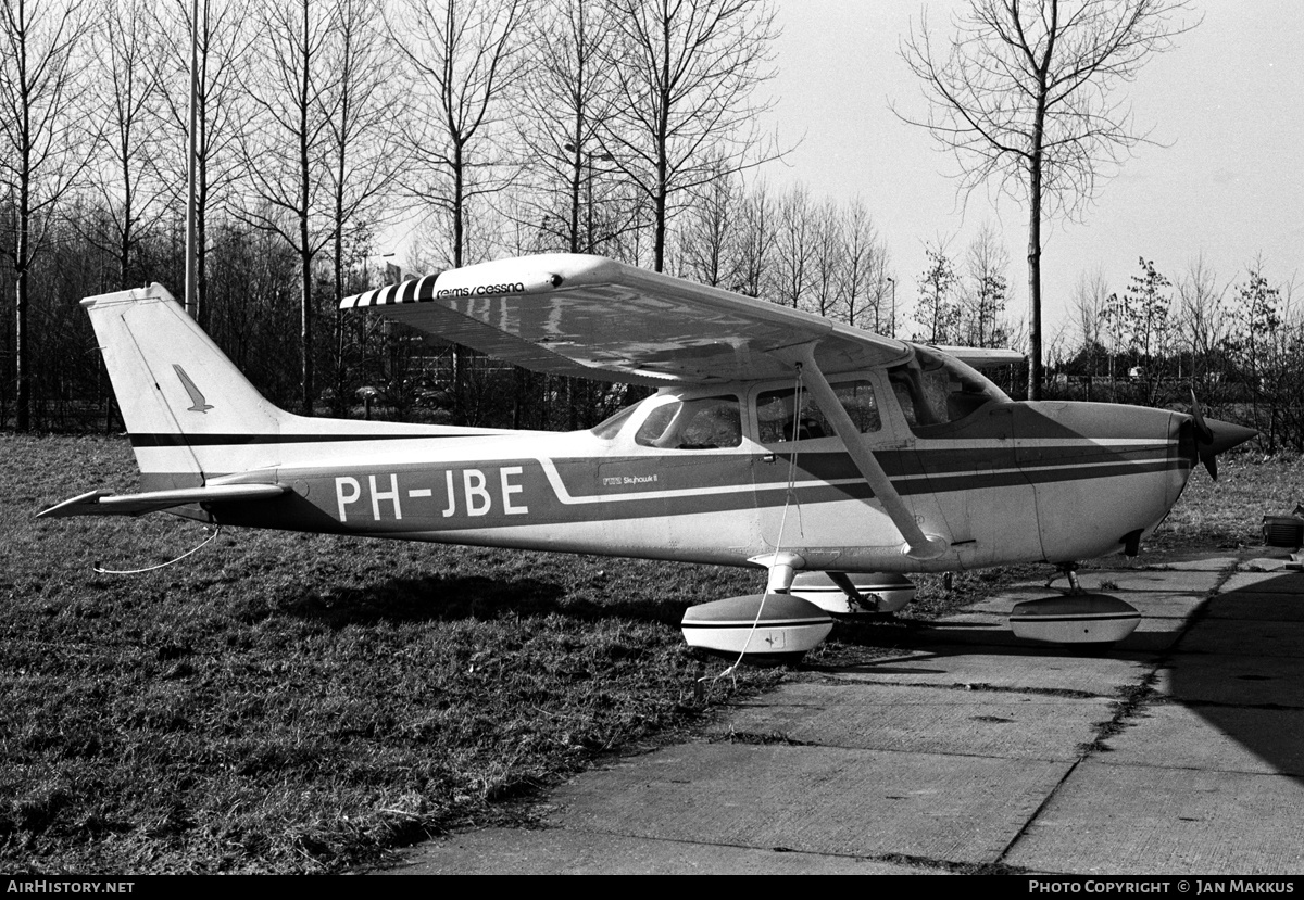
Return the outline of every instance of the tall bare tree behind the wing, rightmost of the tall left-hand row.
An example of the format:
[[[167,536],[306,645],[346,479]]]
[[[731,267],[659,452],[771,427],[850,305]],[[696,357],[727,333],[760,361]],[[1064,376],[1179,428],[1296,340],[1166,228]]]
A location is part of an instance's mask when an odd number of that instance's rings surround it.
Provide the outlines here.
[[[768,0],[606,0],[618,39],[618,102],[602,145],[652,207],[652,264],[665,268],[666,223],[681,198],[759,164],[752,99],[773,76]]]

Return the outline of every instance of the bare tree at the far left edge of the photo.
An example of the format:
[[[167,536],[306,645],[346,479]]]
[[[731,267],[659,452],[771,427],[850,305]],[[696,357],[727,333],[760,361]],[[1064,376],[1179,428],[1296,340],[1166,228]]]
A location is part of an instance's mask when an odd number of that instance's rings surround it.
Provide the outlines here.
[[[76,53],[91,26],[77,0],[0,0],[0,188],[13,204],[17,427],[31,427],[29,277],[53,212],[81,177],[93,146],[78,115]]]

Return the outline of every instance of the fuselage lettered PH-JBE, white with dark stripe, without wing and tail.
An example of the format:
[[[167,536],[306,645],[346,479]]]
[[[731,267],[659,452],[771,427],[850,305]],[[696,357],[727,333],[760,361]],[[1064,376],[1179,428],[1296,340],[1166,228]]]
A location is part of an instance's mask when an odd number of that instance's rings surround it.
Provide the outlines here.
[[[1134,547],[1191,474],[1188,415],[1013,402],[953,361],[931,374],[923,362],[829,382],[921,527],[949,542],[932,560],[901,554],[842,438],[792,380],[662,389],[591,431],[287,445],[286,465],[209,479],[287,495],[207,508],[232,525],[735,565],[784,551],[812,569],[921,572]]]

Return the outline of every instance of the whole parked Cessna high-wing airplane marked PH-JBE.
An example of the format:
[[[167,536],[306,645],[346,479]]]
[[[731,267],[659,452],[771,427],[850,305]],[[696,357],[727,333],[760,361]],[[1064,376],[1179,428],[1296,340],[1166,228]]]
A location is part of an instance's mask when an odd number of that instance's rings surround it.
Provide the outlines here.
[[[802,653],[831,626],[820,606],[896,608],[901,573],[1134,554],[1194,462],[1213,470],[1253,434],[1198,408],[1015,402],[966,365],[1008,352],[919,346],[585,255],[471,266],[343,303],[536,371],[660,388],[566,434],[292,415],[162,287],[82,305],[142,492],[91,491],[42,516],[172,511],[764,567],[764,594],[686,615],[690,642],[716,650]],[[1021,607],[1016,630],[1043,640],[1115,640],[1138,615],[1081,594]]]

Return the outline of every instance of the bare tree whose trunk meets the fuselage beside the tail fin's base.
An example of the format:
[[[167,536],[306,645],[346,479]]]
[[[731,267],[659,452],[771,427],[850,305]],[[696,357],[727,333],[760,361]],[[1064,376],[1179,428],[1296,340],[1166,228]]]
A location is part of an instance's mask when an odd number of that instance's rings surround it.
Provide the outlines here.
[[[310,0],[267,7],[258,23],[262,65],[248,73],[258,119],[243,139],[252,197],[239,215],[279,234],[299,258],[304,415],[312,414],[316,397],[313,260],[333,236],[330,117],[339,83],[338,16],[338,8]]]

